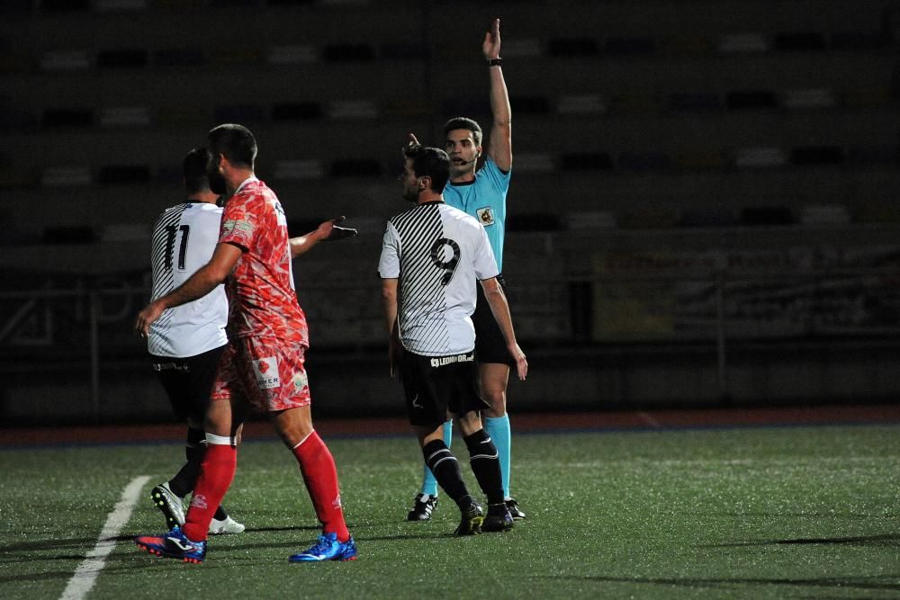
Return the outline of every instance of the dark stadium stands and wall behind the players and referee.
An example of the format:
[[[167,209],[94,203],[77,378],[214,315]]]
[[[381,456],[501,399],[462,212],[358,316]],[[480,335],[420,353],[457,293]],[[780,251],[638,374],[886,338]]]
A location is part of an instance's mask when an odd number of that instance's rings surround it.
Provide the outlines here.
[[[213,125],[257,136],[294,234],[324,415],[399,414],[376,265],[410,131],[490,129],[532,374],[511,411],[896,402],[888,0],[8,0],[0,8],[0,420],[171,418],[131,322],[148,233]]]

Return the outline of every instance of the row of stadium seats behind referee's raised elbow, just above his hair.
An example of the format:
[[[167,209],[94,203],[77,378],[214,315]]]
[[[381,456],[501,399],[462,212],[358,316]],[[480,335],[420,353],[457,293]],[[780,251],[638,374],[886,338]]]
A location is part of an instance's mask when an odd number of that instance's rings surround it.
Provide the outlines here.
[[[740,111],[802,111],[840,108],[869,108],[887,106],[900,101],[892,98],[887,88],[873,88],[868,94],[856,90],[852,94],[837,94],[828,88],[787,90],[733,90],[718,94],[700,92],[694,94],[659,95],[639,94],[572,94],[556,98],[545,96],[513,95],[510,99],[513,112],[518,115],[558,114],[579,115],[678,114],[702,112]],[[0,102],[0,106],[3,103]],[[0,113],[0,131],[33,131],[57,128],[149,128],[166,125],[183,126],[190,121],[205,125],[214,122],[260,122],[331,120],[377,120],[383,117],[410,114],[428,114],[431,109],[425,103],[408,99],[384,100],[334,100],[330,102],[275,102],[228,103],[213,107],[200,104],[177,108],[149,106],[112,106],[100,109],[69,106],[50,107],[35,113],[6,107]],[[442,103],[446,114],[489,114],[487,100],[452,98]]]

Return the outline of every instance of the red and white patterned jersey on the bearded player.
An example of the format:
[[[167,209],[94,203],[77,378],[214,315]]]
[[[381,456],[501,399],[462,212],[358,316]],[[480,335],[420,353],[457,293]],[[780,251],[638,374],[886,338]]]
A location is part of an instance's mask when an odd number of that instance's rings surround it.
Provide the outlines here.
[[[306,315],[293,287],[287,218],[275,193],[256,177],[225,203],[220,243],[243,254],[226,282],[229,337],[266,337],[309,345]]]

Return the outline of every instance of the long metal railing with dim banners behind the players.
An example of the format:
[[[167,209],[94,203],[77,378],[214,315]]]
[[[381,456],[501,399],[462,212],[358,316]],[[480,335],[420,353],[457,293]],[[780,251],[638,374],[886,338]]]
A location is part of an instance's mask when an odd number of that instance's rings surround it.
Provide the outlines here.
[[[322,282],[299,292],[317,348],[362,354],[383,344],[377,281]],[[686,342],[709,344],[722,397],[729,393],[729,348],[742,340],[900,342],[900,274],[893,267],[557,273],[520,278],[510,295],[518,336],[551,350],[627,344],[640,352],[643,345],[662,344],[675,353]],[[144,359],[146,347],[132,323],[147,298],[144,282],[108,277],[67,289],[0,292],[4,370],[47,372],[53,365],[83,372],[99,412],[103,368]]]

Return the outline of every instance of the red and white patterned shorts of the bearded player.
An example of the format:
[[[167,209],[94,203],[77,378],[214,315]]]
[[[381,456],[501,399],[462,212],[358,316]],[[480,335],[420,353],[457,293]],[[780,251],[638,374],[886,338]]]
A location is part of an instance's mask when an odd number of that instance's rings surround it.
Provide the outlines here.
[[[263,412],[311,404],[305,345],[238,337],[222,355],[211,399],[246,400]]]

